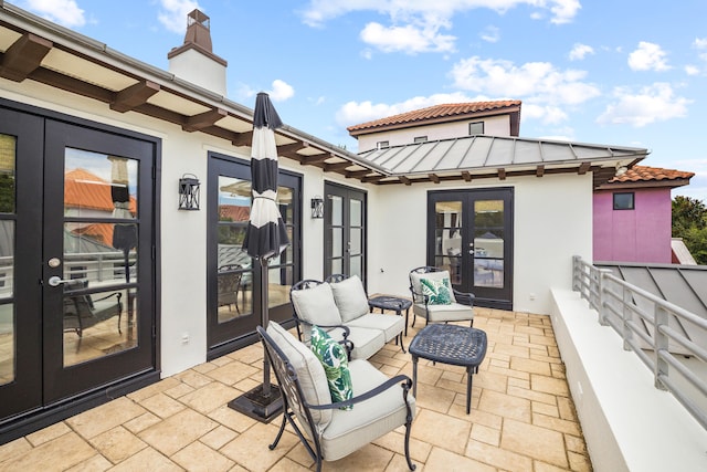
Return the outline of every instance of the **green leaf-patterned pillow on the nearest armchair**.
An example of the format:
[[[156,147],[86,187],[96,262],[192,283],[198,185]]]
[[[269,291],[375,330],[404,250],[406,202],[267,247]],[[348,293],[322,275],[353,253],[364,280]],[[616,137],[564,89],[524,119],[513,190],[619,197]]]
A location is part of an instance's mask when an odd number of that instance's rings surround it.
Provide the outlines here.
[[[312,326],[312,352],[317,356],[327,375],[331,401],[344,401],[354,398],[351,373],[346,348],[333,339],[327,332],[318,326]],[[341,408],[350,410],[354,406]]]

